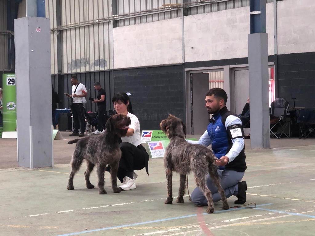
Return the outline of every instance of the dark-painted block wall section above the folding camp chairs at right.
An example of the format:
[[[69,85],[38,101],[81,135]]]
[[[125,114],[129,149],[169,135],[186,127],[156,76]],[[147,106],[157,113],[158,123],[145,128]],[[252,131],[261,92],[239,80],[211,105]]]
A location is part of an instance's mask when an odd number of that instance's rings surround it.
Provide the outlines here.
[[[278,97],[315,109],[315,52],[278,55]]]

